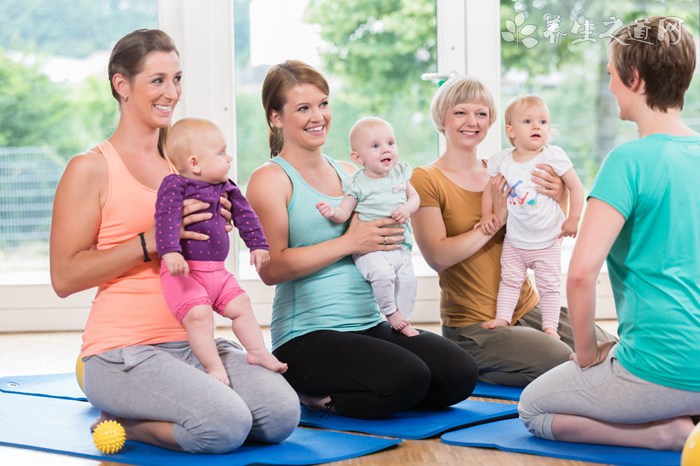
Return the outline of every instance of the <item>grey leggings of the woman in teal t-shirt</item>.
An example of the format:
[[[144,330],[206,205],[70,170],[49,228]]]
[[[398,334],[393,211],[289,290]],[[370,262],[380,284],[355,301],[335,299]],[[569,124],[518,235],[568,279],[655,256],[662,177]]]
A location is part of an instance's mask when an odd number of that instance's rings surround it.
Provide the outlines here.
[[[518,405],[520,418],[534,435],[556,440],[555,414],[604,422],[643,424],[700,414],[700,392],[657,385],[631,374],[615,358],[588,369],[569,361],[527,386]]]

